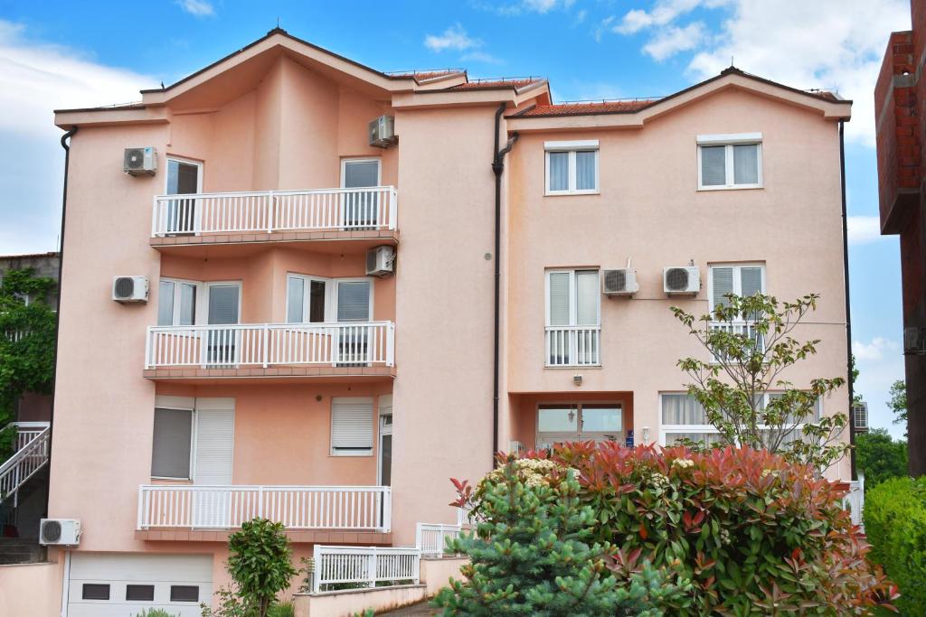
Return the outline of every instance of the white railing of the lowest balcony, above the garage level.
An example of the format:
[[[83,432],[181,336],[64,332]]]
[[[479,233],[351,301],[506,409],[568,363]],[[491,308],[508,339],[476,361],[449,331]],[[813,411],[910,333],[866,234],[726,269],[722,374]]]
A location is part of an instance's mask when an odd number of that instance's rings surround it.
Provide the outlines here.
[[[288,529],[388,532],[390,487],[143,485],[138,528],[234,529],[260,516]]]

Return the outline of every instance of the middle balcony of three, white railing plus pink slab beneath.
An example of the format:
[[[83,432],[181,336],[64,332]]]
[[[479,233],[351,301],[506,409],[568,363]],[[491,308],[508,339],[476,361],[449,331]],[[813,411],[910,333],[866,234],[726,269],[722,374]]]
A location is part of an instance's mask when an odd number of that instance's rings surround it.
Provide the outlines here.
[[[144,376],[394,376],[395,326],[390,321],[151,326]]]

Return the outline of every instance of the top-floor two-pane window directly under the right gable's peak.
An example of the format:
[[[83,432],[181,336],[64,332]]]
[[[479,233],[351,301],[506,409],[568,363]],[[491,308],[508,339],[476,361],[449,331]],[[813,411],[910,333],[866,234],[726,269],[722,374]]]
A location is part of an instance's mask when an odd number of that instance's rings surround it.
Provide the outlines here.
[[[762,187],[762,133],[698,135],[698,190]]]

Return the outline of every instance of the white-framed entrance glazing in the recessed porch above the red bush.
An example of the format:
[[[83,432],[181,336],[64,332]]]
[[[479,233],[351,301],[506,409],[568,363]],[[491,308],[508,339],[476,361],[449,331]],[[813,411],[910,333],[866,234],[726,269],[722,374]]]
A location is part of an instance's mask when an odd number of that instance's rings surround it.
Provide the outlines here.
[[[619,403],[540,405],[537,408],[537,447],[561,441],[619,441],[623,410]]]

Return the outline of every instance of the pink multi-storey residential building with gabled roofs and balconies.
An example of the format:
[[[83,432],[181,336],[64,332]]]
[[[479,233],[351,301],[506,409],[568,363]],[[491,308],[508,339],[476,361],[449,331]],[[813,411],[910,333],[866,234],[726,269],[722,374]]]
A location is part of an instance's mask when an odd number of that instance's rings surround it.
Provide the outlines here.
[[[297,556],[410,546],[496,449],[709,440],[671,305],[817,291],[820,353],[788,377],[846,376],[850,106],[736,68],[553,105],[545,80],[384,74],[274,30],[140,104],[56,112],[78,132],[48,513],[82,533],[54,602],[198,614],[254,515]]]

